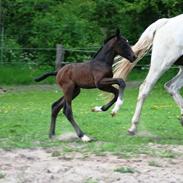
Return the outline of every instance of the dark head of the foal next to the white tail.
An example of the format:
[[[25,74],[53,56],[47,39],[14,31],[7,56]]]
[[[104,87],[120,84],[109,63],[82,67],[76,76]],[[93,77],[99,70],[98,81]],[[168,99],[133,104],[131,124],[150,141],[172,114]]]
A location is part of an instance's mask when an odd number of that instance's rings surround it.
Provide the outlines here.
[[[123,36],[120,35],[119,29],[116,31],[115,35],[115,42],[114,42],[114,51],[116,54],[128,59],[130,62],[133,62],[136,60],[136,56],[134,52],[132,51],[128,40],[125,39]]]

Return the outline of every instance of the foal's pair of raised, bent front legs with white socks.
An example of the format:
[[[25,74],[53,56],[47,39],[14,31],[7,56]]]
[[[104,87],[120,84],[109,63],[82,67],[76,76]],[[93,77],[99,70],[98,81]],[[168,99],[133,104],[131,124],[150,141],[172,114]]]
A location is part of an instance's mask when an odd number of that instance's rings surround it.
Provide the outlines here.
[[[119,85],[119,90],[113,87],[113,84]],[[97,88],[100,90],[110,92],[114,94],[114,98],[107,103],[106,105],[100,106],[100,107],[95,107],[92,111],[94,112],[102,112],[106,111],[111,107],[116,101],[115,107],[112,110],[112,116],[114,116],[117,111],[119,110],[120,106],[122,105],[122,94],[124,91],[126,84],[124,80],[119,79],[119,78],[104,78],[100,82],[97,83]]]

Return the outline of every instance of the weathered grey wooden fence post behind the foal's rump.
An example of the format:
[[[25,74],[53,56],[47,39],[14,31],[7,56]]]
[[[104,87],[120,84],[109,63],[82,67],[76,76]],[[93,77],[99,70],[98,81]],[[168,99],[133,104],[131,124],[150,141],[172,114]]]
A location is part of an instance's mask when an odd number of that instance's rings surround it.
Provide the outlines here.
[[[56,70],[61,67],[63,60],[64,60],[64,47],[61,44],[57,44],[56,45],[56,60],[55,60]]]

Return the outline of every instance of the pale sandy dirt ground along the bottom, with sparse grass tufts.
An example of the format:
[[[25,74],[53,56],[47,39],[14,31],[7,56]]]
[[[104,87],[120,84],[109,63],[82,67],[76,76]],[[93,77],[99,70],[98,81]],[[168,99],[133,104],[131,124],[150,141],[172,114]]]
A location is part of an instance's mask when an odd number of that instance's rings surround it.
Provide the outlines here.
[[[158,146],[178,154],[183,146]],[[125,171],[128,168],[131,173]],[[123,172],[116,170],[123,168]],[[0,183],[183,183],[183,156],[138,155],[125,159],[59,149],[0,150]]]

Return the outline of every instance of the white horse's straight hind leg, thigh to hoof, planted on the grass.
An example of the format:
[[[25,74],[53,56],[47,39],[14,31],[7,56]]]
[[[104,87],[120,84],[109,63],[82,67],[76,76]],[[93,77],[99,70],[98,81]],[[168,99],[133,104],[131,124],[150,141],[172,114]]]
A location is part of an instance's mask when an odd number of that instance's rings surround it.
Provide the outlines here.
[[[175,41],[174,37],[167,36],[167,31],[166,27],[165,29],[162,28],[154,37],[151,66],[144,83],[140,87],[135,113],[132,118],[132,124],[128,130],[130,134],[135,134],[137,130],[142,106],[156,81],[182,55],[182,46],[177,46],[181,42],[179,39]],[[171,35],[172,30],[170,29],[169,31]]]

